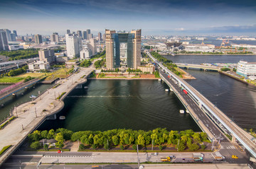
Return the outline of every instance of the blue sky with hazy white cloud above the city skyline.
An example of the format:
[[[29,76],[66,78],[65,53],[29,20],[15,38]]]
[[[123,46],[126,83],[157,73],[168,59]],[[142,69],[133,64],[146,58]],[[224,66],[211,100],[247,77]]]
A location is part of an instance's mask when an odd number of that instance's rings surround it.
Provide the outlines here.
[[[0,0],[18,35],[142,29],[142,35],[256,36],[256,0]]]

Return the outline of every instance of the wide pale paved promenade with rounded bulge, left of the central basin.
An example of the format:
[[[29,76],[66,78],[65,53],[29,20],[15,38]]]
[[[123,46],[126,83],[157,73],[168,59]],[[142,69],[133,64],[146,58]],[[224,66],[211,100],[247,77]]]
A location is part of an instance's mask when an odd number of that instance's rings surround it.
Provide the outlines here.
[[[28,134],[46,120],[46,117],[54,115],[63,108],[65,96],[78,84],[87,81],[87,76],[95,69],[92,65],[88,68],[80,69],[79,73],[58,81],[59,85],[56,88],[50,88],[36,100],[19,105],[14,109],[12,113],[18,118],[0,130],[0,149],[4,146],[12,145],[0,157],[0,164],[22,144]],[[82,76],[85,77],[82,78]],[[60,99],[57,99],[63,92],[65,94]]]

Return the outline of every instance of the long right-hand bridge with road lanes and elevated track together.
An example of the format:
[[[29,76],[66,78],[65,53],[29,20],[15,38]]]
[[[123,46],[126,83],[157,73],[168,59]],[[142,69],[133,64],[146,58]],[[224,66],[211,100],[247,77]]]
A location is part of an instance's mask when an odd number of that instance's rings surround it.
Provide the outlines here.
[[[148,54],[156,65],[159,66],[161,69],[161,78],[163,78],[171,89],[175,91],[178,98],[180,98],[181,102],[183,102],[183,105],[188,110],[198,110],[198,113],[196,113],[196,111],[192,111],[193,113],[191,113],[191,115],[193,116],[193,119],[196,120],[196,122],[201,126],[201,129],[209,134],[209,137],[213,135],[216,138],[220,133],[214,132],[213,128],[211,128],[213,125],[210,126],[209,124],[206,124],[207,121],[203,120],[203,117],[200,118],[200,112],[203,112],[204,115],[210,117],[211,121],[218,125],[218,128],[222,130],[221,135],[224,135],[223,133],[231,134],[233,136],[233,142],[235,142],[235,139],[238,139],[240,144],[242,144],[242,146],[244,146],[247,151],[252,154],[252,156],[256,157],[256,145],[253,143],[253,136],[245,132],[237,124],[235,124],[235,122],[230,120],[229,117],[219,110],[218,107],[215,107],[213,103],[210,103],[210,101],[201,95],[201,93],[196,91],[195,88],[186,83],[186,81],[183,81],[183,79],[176,76],[176,74],[167,69],[163,64],[158,62],[149,52],[146,52],[146,54]],[[171,81],[173,81],[173,83]],[[184,90],[186,91],[185,95],[181,95],[182,92],[184,93]],[[215,128],[215,131],[218,132],[217,127]]]

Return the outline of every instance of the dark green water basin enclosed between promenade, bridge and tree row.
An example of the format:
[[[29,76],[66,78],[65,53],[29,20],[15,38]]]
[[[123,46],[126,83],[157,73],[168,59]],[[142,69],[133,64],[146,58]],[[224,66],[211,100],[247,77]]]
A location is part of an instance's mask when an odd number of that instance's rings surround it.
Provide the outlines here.
[[[156,80],[90,80],[75,89],[58,113],[65,120],[47,120],[39,129],[65,127],[73,131],[108,129],[193,129],[200,131],[174,93]]]

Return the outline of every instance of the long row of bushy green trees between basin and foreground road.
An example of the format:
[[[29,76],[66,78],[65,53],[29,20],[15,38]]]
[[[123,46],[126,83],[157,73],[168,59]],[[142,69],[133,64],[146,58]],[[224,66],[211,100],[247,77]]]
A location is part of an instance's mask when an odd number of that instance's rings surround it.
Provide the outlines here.
[[[150,131],[132,130],[132,129],[112,129],[105,132],[100,131],[80,131],[72,132],[68,129],[57,129],[54,131],[38,131],[28,135],[31,141],[40,139],[55,139],[58,141],[58,147],[63,147],[64,140],[81,141],[82,144],[91,145],[92,147],[102,146],[120,146],[139,144],[146,146],[154,142],[154,145],[169,144],[176,146],[178,151],[189,148],[195,151],[198,144],[202,141],[208,141],[207,134],[204,132],[193,132],[191,129],[185,131],[167,131],[166,129],[157,128]],[[62,143],[62,144],[61,144]],[[61,147],[62,146],[62,147]],[[107,147],[106,146],[106,147]],[[203,147],[201,147],[203,148]]]

